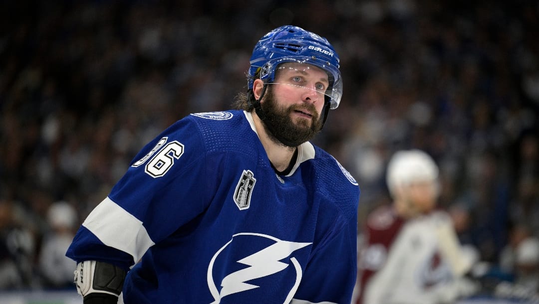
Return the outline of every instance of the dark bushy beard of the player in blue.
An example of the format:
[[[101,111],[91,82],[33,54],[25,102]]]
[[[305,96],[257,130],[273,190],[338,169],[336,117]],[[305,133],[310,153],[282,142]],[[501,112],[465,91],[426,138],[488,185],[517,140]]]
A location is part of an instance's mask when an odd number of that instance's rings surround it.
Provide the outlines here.
[[[271,87],[266,90],[264,97],[264,114],[266,119],[262,121],[264,129],[273,142],[297,147],[308,142],[322,129],[322,122],[312,103],[300,105],[294,104],[289,107],[280,106],[273,95]],[[291,114],[295,110],[307,110],[313,115],[310,119],[301,118],[293,121]]]

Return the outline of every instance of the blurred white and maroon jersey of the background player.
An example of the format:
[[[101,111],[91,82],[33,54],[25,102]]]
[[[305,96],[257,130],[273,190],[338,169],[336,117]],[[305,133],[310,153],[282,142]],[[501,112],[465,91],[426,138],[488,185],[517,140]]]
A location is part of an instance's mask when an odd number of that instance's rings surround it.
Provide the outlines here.
[[[471,263],[443,211],[404,221],[383,207],[369,216],[365,242],[357,303],[451,303],[466,292],[460,278]]]

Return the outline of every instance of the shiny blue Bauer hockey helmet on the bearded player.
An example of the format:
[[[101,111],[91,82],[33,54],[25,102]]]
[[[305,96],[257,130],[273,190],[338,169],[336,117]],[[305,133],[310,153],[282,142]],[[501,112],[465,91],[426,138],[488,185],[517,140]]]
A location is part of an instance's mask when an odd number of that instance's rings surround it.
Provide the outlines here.
[[[285,62],[308,63],[326,71],[329,87],[325,94],[330,108],[338,107],[342,96],[342,79],[335,49],[326,38],[297,26],[280,26],[258,41],[251,55],[247,88],[253,89],[256,77],[273,82],[275,70]]]

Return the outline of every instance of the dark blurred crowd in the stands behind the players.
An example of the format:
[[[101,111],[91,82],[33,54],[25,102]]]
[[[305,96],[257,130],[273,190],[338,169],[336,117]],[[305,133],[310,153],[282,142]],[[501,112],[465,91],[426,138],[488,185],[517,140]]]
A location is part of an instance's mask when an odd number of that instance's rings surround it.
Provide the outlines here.
[[[0,289],[71,286],[64,248],[135,154],[229,109],[284,24],[340,55],[343,100],[314,143],[358,180],[360,234],[390,201],[388,158],[416,148],[482,260],[512,272],[517,236],[539,237],[535,1],[3,1],[0,16]]]

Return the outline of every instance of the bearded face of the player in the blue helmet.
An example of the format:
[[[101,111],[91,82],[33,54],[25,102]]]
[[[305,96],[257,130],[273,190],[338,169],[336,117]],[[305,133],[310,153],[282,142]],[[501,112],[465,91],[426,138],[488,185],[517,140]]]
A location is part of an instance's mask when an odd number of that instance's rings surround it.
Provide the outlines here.
[[[323,92],[328,83],[326,72],[315,66],[296,62],[280,65],[262,99],[275,135],[295,146],[312,139],[322,128]]]

